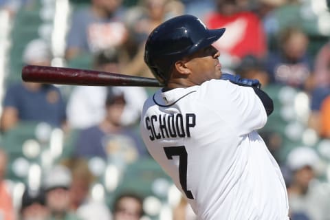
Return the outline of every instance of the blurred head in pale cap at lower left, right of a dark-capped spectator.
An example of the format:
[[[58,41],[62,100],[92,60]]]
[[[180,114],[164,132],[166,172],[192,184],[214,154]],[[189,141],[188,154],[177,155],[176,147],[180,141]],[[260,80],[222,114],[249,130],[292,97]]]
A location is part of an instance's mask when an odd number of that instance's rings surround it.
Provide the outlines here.
[[[44,179],[45,201],[51,213],[50,220],[78,219],[75,213],[69,211],[71,184],[72,175],[65,166],[56,165],[46,173]]]

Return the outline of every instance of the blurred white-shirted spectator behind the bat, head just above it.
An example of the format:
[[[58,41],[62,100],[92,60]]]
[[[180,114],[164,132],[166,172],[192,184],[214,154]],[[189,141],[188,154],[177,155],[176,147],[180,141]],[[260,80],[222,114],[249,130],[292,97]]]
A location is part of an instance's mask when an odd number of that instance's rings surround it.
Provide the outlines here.
[[[103,72],[120,73],[122,61],[118,48],[99,52],[94,56],[94,69]],[[122,91],[127,103],[122,113],[121,122],[132,126],[140,119],[140,113],[146,90],[143,87],[113,87]],[[86,129],[102,121],[105,115],[104,103],[107,87],[77,86],[72,90],[67,102],[67,120],[74,129]]]

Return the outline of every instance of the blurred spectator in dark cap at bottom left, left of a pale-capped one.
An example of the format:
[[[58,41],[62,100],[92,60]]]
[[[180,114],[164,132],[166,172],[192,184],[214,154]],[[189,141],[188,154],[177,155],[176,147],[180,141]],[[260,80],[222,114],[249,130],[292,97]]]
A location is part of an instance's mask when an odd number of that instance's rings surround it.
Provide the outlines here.
[[[25,187],[19,211],[19,219],[47,220],[49,217],[50,212],[45,206],[45,192],[43,189],[31,190]]]

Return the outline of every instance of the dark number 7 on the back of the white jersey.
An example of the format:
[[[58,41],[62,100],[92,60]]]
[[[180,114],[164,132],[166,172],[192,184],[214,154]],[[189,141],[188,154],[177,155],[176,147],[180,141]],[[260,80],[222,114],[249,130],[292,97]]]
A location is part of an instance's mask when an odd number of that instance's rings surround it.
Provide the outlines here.
[[[188,153],[184,146],[165,146],[164,151],[167,159],[173,159],[173,156],[179,156],[179,179],[182,190],[188,199],[194,199],[190,190],[187,190],[187,163]]]

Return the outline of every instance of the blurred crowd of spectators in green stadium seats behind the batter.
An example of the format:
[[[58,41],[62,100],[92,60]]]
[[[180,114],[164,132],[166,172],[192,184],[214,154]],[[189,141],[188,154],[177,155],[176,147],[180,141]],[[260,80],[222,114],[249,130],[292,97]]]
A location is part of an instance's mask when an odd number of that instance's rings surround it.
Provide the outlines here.
[[[153,77],[144,43],[170,17],[226,28],[223,72],[274,100],[259,131],[292,220],[330,219],[330,3],[326,0],[0,0],[0,219],[195,220],[139,133],[157,88],[45,85],[24,65]]]

